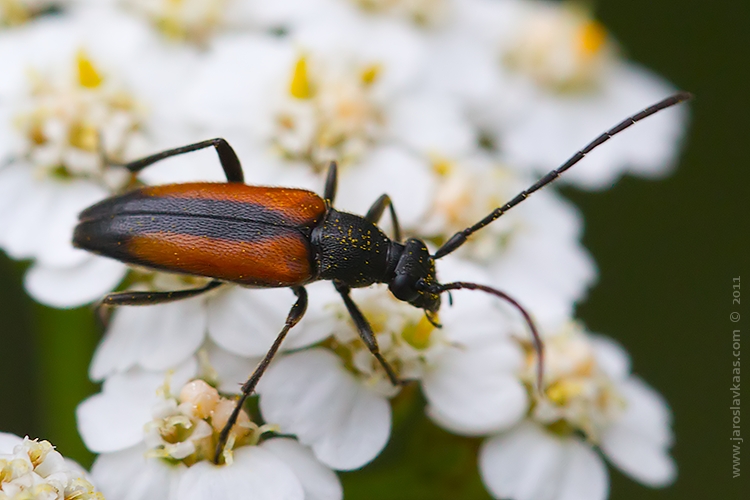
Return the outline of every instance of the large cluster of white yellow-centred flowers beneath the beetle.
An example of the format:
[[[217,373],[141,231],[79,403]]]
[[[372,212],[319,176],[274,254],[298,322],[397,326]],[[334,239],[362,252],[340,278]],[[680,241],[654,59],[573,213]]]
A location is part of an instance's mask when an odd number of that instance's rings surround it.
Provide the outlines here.
[[[403,236],[434,251],[674,90],[567,2],[11,0],[0,16],[0,248],[31,260],[32,297],[63,308],[113,290],[208,283],[72,246],[78,214],[108,196],[222,180],[211,150],[137,173],[122,167],[129,161],[223,137],[250,183],[321,192],[335,160],[337,209],[364,214],[387,194]],[[602,189],[624,173],[664,175],[685,121],[679,108],[649,118],[563,182]],[[394,219],[379,223],[389,235]],[[546,345],[541,381],[527,325],[490,295],[455,291],[436,320],[384,287],[352,293],[429,417],[482,438],[479,469],[497,498],[604,499],[602,456],[649,486],[676,474],[666,403],[630,373],[620,346],[573,318],[596,277],[581,229],[581,214],[551,188],[438,261],[442,282],[496,286],[531,313]],[[102,392],[78,411],[108,498],[343,497],[334,471],[377,457],[391,401],[415,391],[392,384],[330,283],[307,289],[306,316],[218,456],[240,385],[293,294],[226,284],[114,310],[90,367]],[[35,469],[13,464],[0,458],[0,498],[31,487],[22,478]],[[70,481],[28,484],[95,495]]]

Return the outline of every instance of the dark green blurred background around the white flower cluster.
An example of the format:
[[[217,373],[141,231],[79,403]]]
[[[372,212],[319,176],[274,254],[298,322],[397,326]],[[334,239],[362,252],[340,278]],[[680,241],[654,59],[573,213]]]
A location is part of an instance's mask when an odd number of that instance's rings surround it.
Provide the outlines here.
[[[602,0],[595,11],[633,60],[697,96],[675,175],[626,178],[601,193],[564,190],[585,213],[584,243],[600,270],[579,317],[630,351],[634,371],[675,415],[677,482],[650,490],[610,469],[610,498],[739,498],[729,313],[740,312],[747,331],[750,308],[732,306],[731,286],[742,276],[750,302],[750,165],[741,153],[750,141],[750,3]],[[44,437],[89,464],[73,411],[96,390],[86,370],[99,334],[85,308],[55,311],[29,300],[23,269],[0,254],[0,430]],[[343,475],[346,497],[489,498],[476,473],[477,442],[415,417],[407,399],[396,403],[392,445],[366,471]]]

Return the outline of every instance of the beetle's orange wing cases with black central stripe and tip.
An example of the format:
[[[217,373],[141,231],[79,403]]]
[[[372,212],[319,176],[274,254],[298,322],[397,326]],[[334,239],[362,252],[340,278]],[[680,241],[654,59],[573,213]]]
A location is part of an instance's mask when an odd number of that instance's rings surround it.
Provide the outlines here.
[[[323,200],[300,189],[172,184],[88,208],[73,241],[154,269],[286,287],[314,276],[309,235],[324,213]]]

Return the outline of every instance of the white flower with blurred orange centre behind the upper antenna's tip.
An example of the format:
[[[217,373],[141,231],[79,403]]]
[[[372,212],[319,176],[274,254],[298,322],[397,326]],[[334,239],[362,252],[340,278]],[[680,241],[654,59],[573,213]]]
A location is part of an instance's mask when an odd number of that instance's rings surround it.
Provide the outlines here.
[[[674,92],[624,60],[606,29],[572,2],[468,0],[443,37],[433,78],[463,95],[511,165],[546,173],[589,141]],[[585,188],[623,173],[665,175],[684,133],[684,107],[632,127],[563,177]]]

